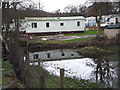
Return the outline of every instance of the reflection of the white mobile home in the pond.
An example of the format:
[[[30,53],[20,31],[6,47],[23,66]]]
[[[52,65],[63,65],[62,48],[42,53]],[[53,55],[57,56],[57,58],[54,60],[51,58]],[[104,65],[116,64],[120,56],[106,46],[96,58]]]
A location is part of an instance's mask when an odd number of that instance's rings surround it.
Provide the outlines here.
[[[29,53],[30,61],[40,60],[58,60],[81,57],[76,50],[50,50]]]

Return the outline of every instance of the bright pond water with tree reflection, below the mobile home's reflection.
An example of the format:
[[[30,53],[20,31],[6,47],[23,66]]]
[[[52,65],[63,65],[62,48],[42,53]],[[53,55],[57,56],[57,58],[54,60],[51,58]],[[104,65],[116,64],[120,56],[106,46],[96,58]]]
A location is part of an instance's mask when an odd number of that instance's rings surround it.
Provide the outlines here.
[[[33,64],[33,63],[31,63]],[[38,63],[34,62],[35,65]],[[104,87],[116,88],[118,85],[118,62],[105,58],[77,58],[41,62],[41,66],[51,74],[60,76],[64,68],[65,77],[100,82]]]

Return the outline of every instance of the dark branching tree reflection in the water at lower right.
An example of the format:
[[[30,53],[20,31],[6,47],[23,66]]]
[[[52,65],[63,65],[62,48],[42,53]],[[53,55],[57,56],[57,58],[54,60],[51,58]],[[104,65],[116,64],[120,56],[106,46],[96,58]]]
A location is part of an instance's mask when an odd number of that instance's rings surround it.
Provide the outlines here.
[[[104,87],[118,87],[118,62],[102,58],[98,58],[94,61],[97,64],[94,70],[96,82],[100,81]]]

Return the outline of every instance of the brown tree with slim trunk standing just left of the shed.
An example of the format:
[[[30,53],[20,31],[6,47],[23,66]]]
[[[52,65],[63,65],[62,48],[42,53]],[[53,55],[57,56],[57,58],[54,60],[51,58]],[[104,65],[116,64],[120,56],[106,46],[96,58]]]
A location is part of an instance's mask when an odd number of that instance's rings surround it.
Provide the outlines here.
[[[110,13],[116,13],[116,6],[115,3],[103,0],[94,0],[93,4],[88,7],[87,15],[88,16],[95,16],[96,17],[96,23],[97,23],[97,38],[100,38],[100,24],[102,15],[108,15]]]

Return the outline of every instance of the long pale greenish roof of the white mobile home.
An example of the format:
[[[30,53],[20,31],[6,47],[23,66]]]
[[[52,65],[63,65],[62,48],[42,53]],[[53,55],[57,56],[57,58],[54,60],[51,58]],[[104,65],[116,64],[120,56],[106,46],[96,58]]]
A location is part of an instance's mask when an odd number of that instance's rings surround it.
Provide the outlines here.
[[[61,20],[85,20],[83,16],[72,17],[26,17],[27,21],[61,21]]]

